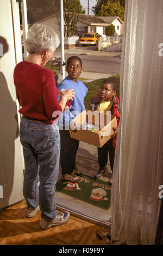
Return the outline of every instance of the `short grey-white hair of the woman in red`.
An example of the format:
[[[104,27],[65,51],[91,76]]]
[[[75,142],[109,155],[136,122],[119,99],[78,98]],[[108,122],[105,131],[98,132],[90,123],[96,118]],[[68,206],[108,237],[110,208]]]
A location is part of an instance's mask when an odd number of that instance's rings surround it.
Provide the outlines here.
[[[39,54],[44,50],[53,51],[59,46],[59,37],[52,28],[35,23],[29,28],[25,44],[27,52],[30,54]]]

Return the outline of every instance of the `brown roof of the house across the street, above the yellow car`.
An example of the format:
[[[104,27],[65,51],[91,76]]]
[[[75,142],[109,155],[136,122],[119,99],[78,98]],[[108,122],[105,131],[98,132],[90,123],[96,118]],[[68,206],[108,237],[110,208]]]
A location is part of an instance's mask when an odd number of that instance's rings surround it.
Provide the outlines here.
[[[95,15],[86,15],[86,14],[79,14],[78,20],[88,25],[108,25],[111,24],[112,21],[118,19],[121,23],[123,21],[118,16],[95,16]]]

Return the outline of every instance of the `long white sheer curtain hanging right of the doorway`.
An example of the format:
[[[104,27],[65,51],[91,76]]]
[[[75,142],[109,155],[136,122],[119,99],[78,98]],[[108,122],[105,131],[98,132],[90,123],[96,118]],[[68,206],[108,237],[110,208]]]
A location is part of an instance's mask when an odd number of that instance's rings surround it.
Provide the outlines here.
[[[111,239],[153,245],[163,185],[163,1],[126,0]]]

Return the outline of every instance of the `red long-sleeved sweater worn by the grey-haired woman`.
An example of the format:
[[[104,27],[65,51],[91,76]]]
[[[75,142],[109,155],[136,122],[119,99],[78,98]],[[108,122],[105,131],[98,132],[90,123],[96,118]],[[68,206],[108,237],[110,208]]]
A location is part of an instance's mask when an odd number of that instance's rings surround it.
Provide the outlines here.
[[[52,70],[22,61],[15,67],[14,84],[22,115],[47,124],[52,124],[58,117],[52,117],[54,111],[60,111],[61,115],[59,91]]]

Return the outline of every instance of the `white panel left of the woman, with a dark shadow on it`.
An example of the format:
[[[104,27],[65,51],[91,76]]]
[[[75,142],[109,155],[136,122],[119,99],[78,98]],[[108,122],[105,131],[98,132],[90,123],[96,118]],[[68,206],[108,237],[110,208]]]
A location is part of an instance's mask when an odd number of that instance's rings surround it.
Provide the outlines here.
[[[14,0],[0,0],[0,5],[0,43],[3,45],[3,54],[0,57],[0,184],[3,186],[0,209],[2,209],[23,199],[22,151],[18,136],[13,81],[14,67],[22,60],[22,50],[18,3]]]

